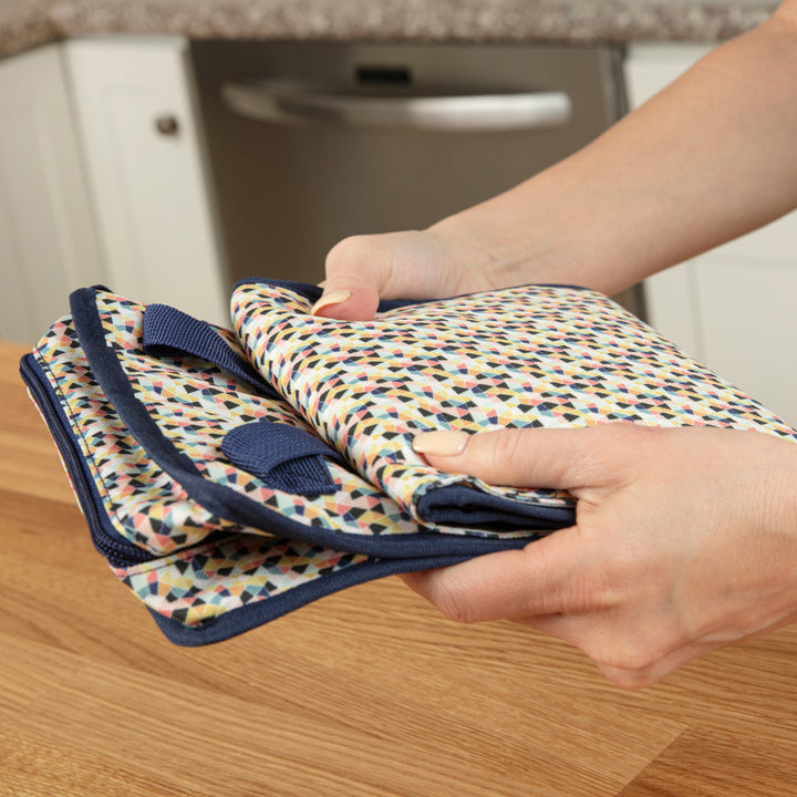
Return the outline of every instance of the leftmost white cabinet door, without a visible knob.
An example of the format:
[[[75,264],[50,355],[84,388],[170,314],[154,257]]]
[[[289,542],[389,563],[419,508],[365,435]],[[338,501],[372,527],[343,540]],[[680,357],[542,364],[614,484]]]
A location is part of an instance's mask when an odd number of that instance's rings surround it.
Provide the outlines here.
[[[0,338],[33,344],[103,279],[62,46],[0,61]]]

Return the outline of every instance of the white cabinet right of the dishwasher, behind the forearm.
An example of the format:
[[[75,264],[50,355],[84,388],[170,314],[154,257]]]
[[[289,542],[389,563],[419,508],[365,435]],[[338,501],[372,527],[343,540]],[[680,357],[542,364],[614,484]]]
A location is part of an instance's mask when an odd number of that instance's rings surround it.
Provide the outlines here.
[[[630,48],[632,107],[674,81],[707,46]],[[797,425],[797,213],[645,280],[653,327]]]

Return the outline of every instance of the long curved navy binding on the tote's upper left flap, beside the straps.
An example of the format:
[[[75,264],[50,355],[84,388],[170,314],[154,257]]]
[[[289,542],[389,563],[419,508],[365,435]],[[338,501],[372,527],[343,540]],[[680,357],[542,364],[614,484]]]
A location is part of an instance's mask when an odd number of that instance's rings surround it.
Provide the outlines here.
[[[165,470],[197,504],[211,514],[239,524],[259,528],[279,537],[300,539],[333,550],[346,550],[372,556],[402,559],[437,556],[478,556],[517,547],[515,540],[466,535],[444,535],[418,531],[413,535],[369,537],[348,534],[344,529],[329,530],[304,526],[236,493],[222,484],[206,479],[196,465],[179,452],[158,428],[146,406],[136,397],[118,361],[116,352],[105,341],[100,312],[92,289],[77,290],[70,297],[72,317],[94,379],[113,404],[130,433],[148,456]],[[530,541],[526,538],[526,542]]]

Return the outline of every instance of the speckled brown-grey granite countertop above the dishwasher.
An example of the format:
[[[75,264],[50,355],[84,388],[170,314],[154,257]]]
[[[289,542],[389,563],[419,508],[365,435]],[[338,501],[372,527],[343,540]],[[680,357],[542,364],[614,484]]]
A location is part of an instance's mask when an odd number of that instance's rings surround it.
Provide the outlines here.
[[[762,0],[0,0],[0,54],[69,37],[372,41],[718,41]]]

